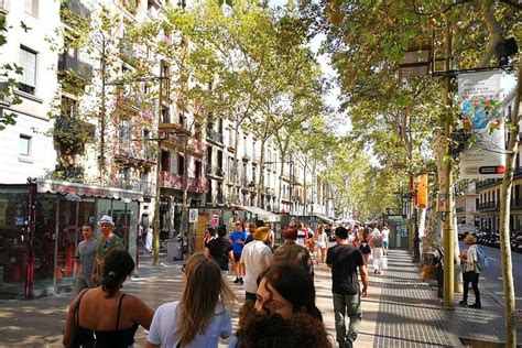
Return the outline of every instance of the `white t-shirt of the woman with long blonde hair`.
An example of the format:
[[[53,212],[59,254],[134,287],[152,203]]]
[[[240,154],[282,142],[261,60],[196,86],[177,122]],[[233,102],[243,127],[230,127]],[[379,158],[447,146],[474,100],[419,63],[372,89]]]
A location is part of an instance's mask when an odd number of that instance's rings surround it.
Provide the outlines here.
[[[174,348],[180,337],[174,333],[176,330],[180,317],[180,301],[168,302],[157,307],[152,318],[151,329],[146,340],[153,345]],[[232,319],[230,312],[221,305],[216,306],[214,319],[208,325],[205,335],[196,334],[188,346],[194,348],[216,348],[219,344],[219,337],[230,336],[232,334]]]

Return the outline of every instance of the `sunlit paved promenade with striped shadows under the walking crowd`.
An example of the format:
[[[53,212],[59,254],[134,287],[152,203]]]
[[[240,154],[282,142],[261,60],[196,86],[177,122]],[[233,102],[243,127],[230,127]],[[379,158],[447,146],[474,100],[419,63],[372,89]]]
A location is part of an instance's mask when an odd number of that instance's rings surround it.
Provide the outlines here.
[[[168,263],[165,257],[162,261],[164,267],[152,267],[150,257],[142,258],[140,276],[126,282],[123,287],[153,308],[178,300],[183,286],[181,263]],[[503,309],[487,291],[481,311],[455,305],[455,311],[447,312],[442,308],[435,289],[418,280],[418,270],[406,251],[391,250],[388,263],[389,270],[384,274],[370,272],[369,297],[363,300],[363,320],[356,347],[463,347],[459,337],[491,342],[474,347],[496,347],[492,342],[503,340]],[[315,284],[317,305],[335,342],[330,276],[323,264],[316,268]],[[242,289],[231,285],[242,298]],[[455,302],[459,300],[456,294]],[[69,294],[32,301],[0,301],[0,347],[59,347],[69,301]],[[240,305],[238,303],[233,308],[235,327]],[[137,346],[142,346],[145,338],[146,331],[140,328]],[[227,347],[226,341],[220,347]]]

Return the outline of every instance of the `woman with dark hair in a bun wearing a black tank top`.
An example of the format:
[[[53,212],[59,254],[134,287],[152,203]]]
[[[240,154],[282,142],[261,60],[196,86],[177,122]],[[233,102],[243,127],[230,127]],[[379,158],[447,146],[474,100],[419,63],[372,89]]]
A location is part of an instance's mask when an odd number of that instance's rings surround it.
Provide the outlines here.
[[[70,303],[63,340],[66,347],[129,347],[139,325],[151,326],[154,312],[140,298],[120,292],[134,269],[129,252],[112,249],[104,264],[101,286],[83,291]]]

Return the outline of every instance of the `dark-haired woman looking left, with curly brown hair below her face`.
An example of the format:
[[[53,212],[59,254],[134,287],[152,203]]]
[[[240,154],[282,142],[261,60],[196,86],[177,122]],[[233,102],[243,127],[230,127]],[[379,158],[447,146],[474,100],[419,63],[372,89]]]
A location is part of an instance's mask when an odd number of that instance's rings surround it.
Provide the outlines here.
[[[258,284],[257,301],[240,309],[229,347],[331,347],[315,305],[314,283],[302,267],[273,263]]]

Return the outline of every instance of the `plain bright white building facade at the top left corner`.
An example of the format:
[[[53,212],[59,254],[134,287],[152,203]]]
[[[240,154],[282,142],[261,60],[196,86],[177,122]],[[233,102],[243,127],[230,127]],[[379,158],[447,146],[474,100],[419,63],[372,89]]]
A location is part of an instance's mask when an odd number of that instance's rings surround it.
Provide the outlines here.
[[[28,177],[37,177],[54,170],[56,163],[53,138],[48,134],[52,122],[47,112],[58,89],[57,55],[51,51],[45,39],[54,35],[59,23],[59,1],[46,1],[45,6],[35,8],[26,4],[28,1],[8,1],[3,4],[11,29],[7,32],[7,44],[0,47],[0,65],[14,63],[23,66],[21,59],[24,59],[25,66],[34,70],[25,69],[24,73],[30,93],[14,90],[22,104],[0,105],[1,112],[17,115],[17,124],[0,131],[0,183],[23,184]],[[29,29],[24,30],[21,22]],[[21,78],[15,74],[11,76]]]

